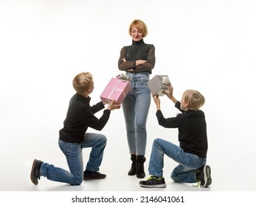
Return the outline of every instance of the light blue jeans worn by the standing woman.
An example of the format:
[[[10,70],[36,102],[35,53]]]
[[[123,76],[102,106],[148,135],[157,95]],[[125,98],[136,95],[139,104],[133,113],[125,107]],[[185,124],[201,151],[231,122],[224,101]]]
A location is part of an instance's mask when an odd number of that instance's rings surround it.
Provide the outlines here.
[[[145,155],[147,144],[146,123],[151,105],[151,91],[148,88],[148,73],[127,73],[131,90],[122,102],[125,116],[126,135],[131,154]]]

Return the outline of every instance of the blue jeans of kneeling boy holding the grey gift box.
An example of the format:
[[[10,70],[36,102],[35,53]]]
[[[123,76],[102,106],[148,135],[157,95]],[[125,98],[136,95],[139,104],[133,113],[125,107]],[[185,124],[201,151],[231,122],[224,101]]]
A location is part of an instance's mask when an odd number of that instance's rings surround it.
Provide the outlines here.
[[[198,168],[205,166],[207,162],[206,158],[184,152],[179,146],[156,138],[153,141],[151,160],[148,166],[149,174],[156,177],[163,176],[164,154],[179,163],[170,174],[170,178],[175,182],[197,182],[196,171]]]

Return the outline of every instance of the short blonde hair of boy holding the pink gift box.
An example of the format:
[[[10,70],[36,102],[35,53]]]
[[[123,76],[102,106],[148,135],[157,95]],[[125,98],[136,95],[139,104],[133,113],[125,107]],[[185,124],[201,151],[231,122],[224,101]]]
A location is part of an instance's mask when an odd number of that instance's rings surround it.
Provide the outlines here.
[[[77,74],[73,79],[72,85],[77,93],[83,94],[86,90],[91,88],[93,82],[90,72],[82,72]]]

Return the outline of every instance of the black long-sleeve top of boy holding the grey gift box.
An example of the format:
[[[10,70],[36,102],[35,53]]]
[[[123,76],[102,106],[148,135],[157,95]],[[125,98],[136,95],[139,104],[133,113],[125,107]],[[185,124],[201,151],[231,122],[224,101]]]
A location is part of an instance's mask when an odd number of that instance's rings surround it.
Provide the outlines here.
[[[181,110],[180,102],[175,107],[181,111],[176,117],[165,118],[161,110],[156,111],[159,125],[165,128],[179,129],[179,146],[184,152],[207,157],[207,124],[201,110]]]

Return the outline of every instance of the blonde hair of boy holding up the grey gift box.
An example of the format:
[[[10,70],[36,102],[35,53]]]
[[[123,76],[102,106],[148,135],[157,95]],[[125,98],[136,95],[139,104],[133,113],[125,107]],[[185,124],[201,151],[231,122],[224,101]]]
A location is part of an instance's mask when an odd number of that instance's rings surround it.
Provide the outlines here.
[[[189,102],[189,110],[199,110],[204,105],[204,96],[197,90],[185,90],[183,93],[184,102]]]

